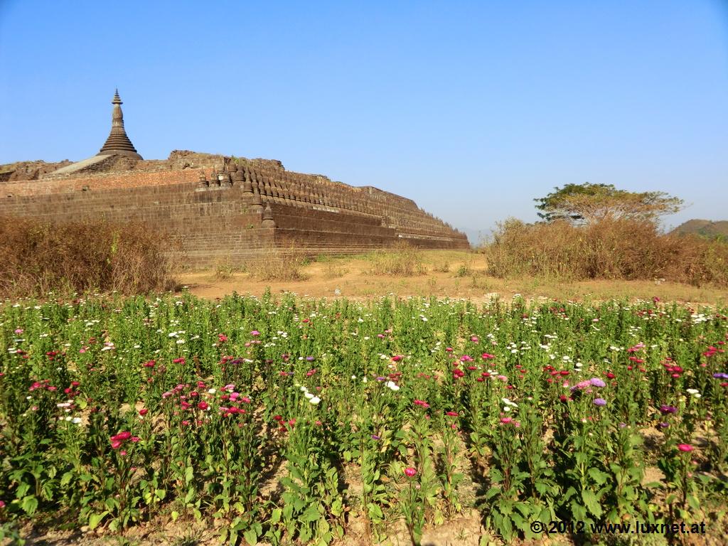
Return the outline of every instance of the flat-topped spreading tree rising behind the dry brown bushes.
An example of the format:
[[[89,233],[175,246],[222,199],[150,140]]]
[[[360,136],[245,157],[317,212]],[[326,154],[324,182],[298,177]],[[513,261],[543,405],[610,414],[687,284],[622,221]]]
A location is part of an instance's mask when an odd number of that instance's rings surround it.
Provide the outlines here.
[[[681,210],[684,201],[664,191],[626,191],[612,184],[566,184],[546,197],[534,199],[547,222],[594,223],[602,220],[657,221]]]

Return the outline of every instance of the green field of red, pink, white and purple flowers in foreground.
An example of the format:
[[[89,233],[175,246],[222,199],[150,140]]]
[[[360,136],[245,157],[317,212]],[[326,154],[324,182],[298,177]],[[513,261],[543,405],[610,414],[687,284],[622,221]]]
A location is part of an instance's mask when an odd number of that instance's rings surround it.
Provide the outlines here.
[[[205,521],[419,544],[464,510],[728,537],[728,310],[181,296],[0,309],[0,538]]]

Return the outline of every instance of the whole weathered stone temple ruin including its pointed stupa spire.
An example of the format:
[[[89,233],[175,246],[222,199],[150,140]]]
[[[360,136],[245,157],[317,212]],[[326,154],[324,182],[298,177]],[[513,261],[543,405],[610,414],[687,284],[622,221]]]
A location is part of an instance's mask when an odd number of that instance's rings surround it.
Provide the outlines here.
[[[173,151],[143,160],[124,130],[116,92],[99,153],[71,163],[0,166],[0,216],[41,221],[145,221],[177,240],[186,265],[239,264],[273,248],[316,256],[408,242],[469,248],[467,237],[372,186],[291,173],[280,162]]]

